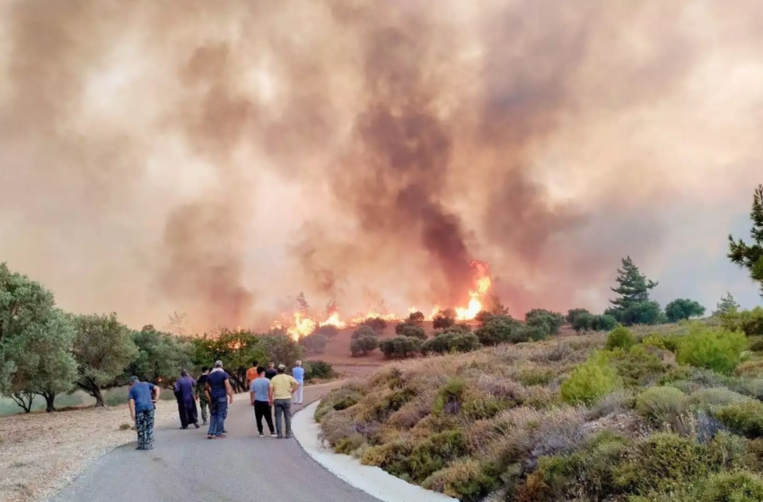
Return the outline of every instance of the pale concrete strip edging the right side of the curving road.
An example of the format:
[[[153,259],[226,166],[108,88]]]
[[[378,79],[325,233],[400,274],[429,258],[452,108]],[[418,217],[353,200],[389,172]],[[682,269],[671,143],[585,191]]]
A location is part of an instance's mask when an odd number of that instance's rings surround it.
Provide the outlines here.
[[[458,502],[456,498],[412,485],[384,472],[379,467],[363,465],[350,455],[336,454],[322,446],[319,437],[320,425],[313,419],[319,403],[320,399],[294,413],[292,431],[297,444],[327,471],[353,488],[364,491],[382,502],[399,502],[400,500]]]

